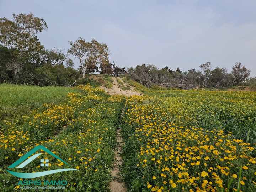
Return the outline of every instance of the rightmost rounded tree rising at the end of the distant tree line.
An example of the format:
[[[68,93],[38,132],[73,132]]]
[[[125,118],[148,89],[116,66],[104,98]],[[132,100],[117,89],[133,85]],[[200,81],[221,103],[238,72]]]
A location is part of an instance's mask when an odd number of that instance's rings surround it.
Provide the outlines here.
[[[251,71],[246,69],[245,66],[242,66],[240,62],[236,62],[235,66],[232,67],[232,75],[233,75],[233,84],[232,86],[238,85],[240,82],[243,82],[250,76]]]

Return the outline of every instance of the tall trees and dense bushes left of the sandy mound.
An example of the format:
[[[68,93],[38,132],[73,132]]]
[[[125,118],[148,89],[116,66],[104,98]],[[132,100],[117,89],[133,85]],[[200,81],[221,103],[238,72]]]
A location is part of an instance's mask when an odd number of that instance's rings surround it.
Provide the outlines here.
[[[0,82],[67,86],[91,72],[123,73],[123,68],[109,62],[106,43],[78,38],[69,42],[67,53],[62,49],[48,50],[37,38],[38,33],[48,28],[43,18],[31,13],[12,16],[13,20],[0,18]],[[70,55],[80,62],[77,70]]]

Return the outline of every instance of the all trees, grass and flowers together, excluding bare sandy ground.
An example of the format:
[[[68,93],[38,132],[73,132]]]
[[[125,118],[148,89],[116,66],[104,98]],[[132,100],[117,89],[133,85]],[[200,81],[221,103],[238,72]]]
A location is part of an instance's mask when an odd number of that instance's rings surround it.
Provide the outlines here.
[[[117,127],[129,191],[256,191],[256,92],[239,91],[256,89],[256,78],[240,62],[231,73],[210,62],[200,71],[152,64],[126,70],[110,62],[106,43],[80,37],[67,53],[48,50],[37,37],[48,28],[43,18],[12,16],[0,18],[3,191],[25,191],[6,169],[38,145],[70,165],[44,151],[50,169],[79,170],[41,180],[66,180],[64,191],[109,191]],[[121,89],[128,84],[144,95],[108,95],[99,86],[111,89],[113,76],[122,78]],[[38,158],[14,171],[42,169]]]

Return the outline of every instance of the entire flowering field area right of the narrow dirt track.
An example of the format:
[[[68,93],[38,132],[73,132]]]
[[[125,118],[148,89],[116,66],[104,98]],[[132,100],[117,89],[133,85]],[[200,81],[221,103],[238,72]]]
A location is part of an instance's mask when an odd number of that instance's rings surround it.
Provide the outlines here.
[[[122,174],[129,190],[255,191],[255,98],[177,90],[128,98]]]

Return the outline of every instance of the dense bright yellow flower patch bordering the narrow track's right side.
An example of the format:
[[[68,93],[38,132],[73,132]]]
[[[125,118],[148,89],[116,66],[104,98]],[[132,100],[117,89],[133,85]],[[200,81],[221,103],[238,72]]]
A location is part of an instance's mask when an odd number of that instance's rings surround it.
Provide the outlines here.
[[[134,130],[127,143],[137,147],[137,174],[148,189],[214,192],[250,186],[256,190],[254,147],[221,129],[178,126],[172,109],[154,101],[148,96],[128,98],[124,117],[127,131]]]

